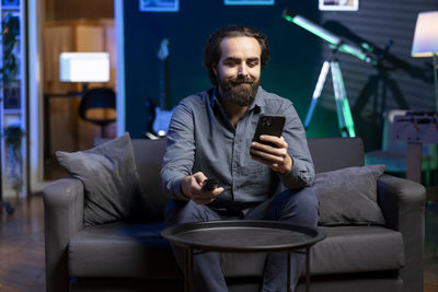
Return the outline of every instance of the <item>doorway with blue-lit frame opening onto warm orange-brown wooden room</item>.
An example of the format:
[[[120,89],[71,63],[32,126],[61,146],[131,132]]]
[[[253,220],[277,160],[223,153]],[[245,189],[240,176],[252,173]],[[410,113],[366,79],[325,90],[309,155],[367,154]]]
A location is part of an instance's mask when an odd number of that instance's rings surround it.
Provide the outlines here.
[[[116,122],[106,130],[108,137],[119,136],[125,131],[125,90],[124,90],[124,60],[117,56],[124,56],[123,37],[123,0],[30,0],[26,1],[27,11],[27,109],[28,109],[28,188],[30,192],[41,192],[51,180],[64,177],[67,174],[60,170],[54,156],[55,151],[78,151],[90,148],[93,140],[100,136],[100,128],[95,125],[87,125],[78,116],[79,97],[49,97],[45,94],[74,93],[82,90],[80,83],[62,83],[56,74],[59,74],[59,56],[57,52],[71,49],[91,49],[87,40],[99,39],[99,48],[111,55],[111,79],[104,83],[90,83],[93,86],[111,86],[116,92]],[[117,16],[118,15],[118,16]],[[55,28],[55,26],[58,26]],[[56,33],[68,31],[67,34],[57,34],[61,40],[50,39],[46,35],[46,28],[50,27]],[[87,37],[78,40],[80,35]],[[103,36],[102,36],[102,34]],[[100,36],[94,39],[93,35]],[[69,37],[67,37],[67,35]],[[50,54],[45,50],[48,45],[44,38],[60,45],[58,51],[50,48]],[[117,42],[116,42],[117,38]],[[107,45],[110,43],[111,45]],[[62,45],[61,45],[62,44]],[[68,46],[66,45],[68,44]],[[102,45],[104,44],[104,45]],[[93,45],[93,46],[94,46]],[[51,46],[51,44],[50,44]],[[44,56],[46,52],[46,56]],[[47,59],[49,58],[49,59]],[[51,60],[51,61],[50,61]],[[46,65],[45,62],[48,62]],[[115,69],[117,68],[117,70]],[[47,72],[45,72],[47,70]],[[117,80],[117,82],[116,82]],[[50,102],[47,105],[47,102]],[[50,110],[47,108],[50,107]],[[55,116],[47,116],[53,114]],[[47,122],[47,119],[51,119]],[[45,129],[46,128],[46,129]],[[47,130],[49,128],[49,130]],[[48,138],[47,139],[47,133]],[[50,137],[51,136],[51,137]],[[48,143],[55,147],[47,147]],[[54,168],[58,167],[58,168]]]

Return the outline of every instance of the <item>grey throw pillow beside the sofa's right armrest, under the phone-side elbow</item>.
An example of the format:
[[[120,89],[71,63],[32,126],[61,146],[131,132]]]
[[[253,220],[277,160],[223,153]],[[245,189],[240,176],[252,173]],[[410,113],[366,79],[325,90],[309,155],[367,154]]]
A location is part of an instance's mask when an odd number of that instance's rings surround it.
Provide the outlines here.
[[[347,167],[316,174],[320,225],[384,224],[377,203],[377,179],[384,165]]]

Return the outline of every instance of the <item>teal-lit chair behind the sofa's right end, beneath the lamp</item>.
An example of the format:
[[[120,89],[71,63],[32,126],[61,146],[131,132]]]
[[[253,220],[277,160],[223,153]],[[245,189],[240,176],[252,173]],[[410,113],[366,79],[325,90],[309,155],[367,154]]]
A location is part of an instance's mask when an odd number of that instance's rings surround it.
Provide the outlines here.
[[[405,109],[391,109],[387,113],[383,124],[382,149],[370,151],[365,154],[365,164],[384,164],[385,172],[406,174],[406,152],[407,144],[393,138],[394,116],[404,115]],[[430,173],[438,168],[437,145],[423,144],[422,151],[422,172],[425,172],[425,184],[430,185]]]

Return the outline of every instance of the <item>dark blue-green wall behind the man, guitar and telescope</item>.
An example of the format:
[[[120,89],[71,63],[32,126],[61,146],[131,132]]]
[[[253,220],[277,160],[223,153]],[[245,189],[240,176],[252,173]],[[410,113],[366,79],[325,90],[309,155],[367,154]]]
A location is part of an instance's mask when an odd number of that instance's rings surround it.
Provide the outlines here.
[[[157,51],[161,39],[170,39],[170,89],[173,104],[176,104],[210,86],[203,66],[204,45],[215,30],[227,24],[250,25],[268,36],[272,61],[262,73],[262,85],[291,100],[303,120],[330,48],[318,36],[281,19],[284,8],[293,9],[348,42],[366,40],[374,45],[378,52],[389,39],[394,40],[384,61],[385,68],[391,70],[380,71],[381,75],[377,68],[353,56],[336,55],[356,132],[365,138],[368,150],[380,145],[384,110],[435,108],[431,59],[413,59],[410,54],[416,14],[438,9],[436,0],[362,0],[357,12],[321,12],[316,0],[277,0],[273,7],[226,7],[222,0],[180,0],[177,13],[139,12],[138,1],[124,1],[126,128],[131,136],[141,137],[146,129],[147,97],[158,102],[160,62]],[[383,84],[382,75],[390,81]],[[373,95],[368,89],[376,87],[374,81],[380,90]],[[339,136],[331,82],[328,78],[308,137]]]

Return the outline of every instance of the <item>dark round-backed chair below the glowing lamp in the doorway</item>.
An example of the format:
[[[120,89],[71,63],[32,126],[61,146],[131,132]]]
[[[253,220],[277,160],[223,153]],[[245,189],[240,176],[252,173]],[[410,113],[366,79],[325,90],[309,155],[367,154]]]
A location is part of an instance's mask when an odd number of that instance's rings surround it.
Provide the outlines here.
[[[116,121],[116,94],[110,87],[88,90],[79,105],[79,116],[101,127],[101,137],[105,138],[105,127]]]

